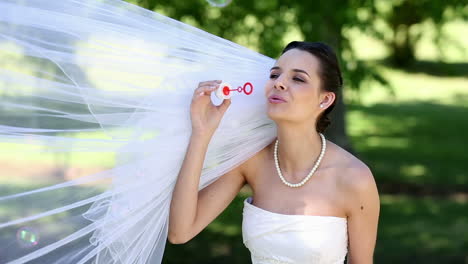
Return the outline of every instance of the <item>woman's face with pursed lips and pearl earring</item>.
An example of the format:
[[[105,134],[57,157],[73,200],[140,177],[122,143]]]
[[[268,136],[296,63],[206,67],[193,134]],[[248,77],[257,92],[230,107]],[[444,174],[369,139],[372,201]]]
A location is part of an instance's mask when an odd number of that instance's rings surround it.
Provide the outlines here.
[[[319,114],[334,100],[333,93],[321,91],[319,67],[319,60],[307,51],[291,49],[281,55],[265,85],[270,119],[315,124]]]

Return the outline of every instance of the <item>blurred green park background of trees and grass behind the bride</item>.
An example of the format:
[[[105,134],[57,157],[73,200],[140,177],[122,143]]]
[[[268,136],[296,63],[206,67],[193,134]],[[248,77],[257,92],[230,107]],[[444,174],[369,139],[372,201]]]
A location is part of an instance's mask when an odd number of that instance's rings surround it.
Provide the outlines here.
[[[468,263],[466,1],[127,2],[272,58],[293,40],[333,46],[345,88],[327,136],[373,171],[381,199],[375,263]],[[21,58],[7,57],[0,66],[18,62]],[[0,150],[0,196],[111,168],[114,162],[102,153],[20,155],[27,152],[24,146],[4,142]],[[241,234],[242,204],[250,194],[243,189],[187,244],[168,244],[163,263],[250,263]],[[0,218],[12,212],[0,208]],[[33,247],[38,235],[24,227],[17,239]],[[4,242],[0,233],[0,257]]]

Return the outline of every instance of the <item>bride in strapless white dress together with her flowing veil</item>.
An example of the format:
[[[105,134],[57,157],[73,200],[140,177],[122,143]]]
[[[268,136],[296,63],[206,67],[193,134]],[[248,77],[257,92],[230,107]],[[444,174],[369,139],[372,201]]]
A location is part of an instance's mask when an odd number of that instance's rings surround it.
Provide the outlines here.
[[[328,46],[274,60],[120,0],[0,10],[3,157],[77,169],[2,178],[1,263],[161,263],[167,238],[191,239],[245,184],[254,263],[372,262],[372,174],[322,135],[342,85]],[[211,78],[252,89],[215,106]]]

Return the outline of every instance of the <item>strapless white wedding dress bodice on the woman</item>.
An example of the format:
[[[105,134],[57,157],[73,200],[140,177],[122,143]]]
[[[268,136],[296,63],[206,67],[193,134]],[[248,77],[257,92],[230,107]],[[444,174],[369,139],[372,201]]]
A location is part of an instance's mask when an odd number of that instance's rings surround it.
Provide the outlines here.
[[[273,213],[244,201],[242,236],[253,264],[342,264],[347,220],[335,216]]]

